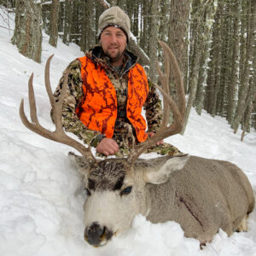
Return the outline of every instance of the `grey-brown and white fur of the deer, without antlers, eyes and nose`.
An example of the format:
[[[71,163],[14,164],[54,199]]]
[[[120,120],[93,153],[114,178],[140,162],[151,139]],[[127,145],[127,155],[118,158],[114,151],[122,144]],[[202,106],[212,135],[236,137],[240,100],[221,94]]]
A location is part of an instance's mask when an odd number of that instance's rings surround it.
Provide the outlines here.
[[[102,160],[96,169],[83,157],[75,156],[75,161],[90,190],[84,202],[85,230],[98,224],[112,235],[123,233],[141,213],[153,223],[176,221],[185,236],[204,243],[219,229],[228,236],[246,231],[242,224],[253,211],[253,189],[246,175],[227,161],[164,156],[139,159],[133,169],[125,160]],[[131,193],[121,195],[127,186]],[[107,241],[99,238],[96,245]]]

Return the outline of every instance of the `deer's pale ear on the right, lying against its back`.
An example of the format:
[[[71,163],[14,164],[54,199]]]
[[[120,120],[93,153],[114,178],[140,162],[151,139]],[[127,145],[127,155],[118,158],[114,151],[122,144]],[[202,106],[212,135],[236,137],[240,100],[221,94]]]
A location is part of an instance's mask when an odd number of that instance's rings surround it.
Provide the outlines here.
[[[183,169],[183,166],[189,160],[189,154],[183,156],[172,157],[166,160],[160,168],[154,168],[144,172],[144,180],[146,183],[160,184],[165,183],[170,177],[172,172],[179,171]]]

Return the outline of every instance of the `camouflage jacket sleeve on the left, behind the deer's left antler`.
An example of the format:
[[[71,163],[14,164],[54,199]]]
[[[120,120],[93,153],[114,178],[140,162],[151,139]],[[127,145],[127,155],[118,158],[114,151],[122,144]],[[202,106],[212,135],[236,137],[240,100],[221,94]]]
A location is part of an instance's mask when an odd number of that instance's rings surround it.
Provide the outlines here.
[[[66,131],[73,132],[80,140],[88,144],[94,137],[100,134],[99,131],[92,131],[81,122],[76,109],[84,98],[83,80],[81,77],[81,63],[77,59],[71,62],[64,73],[68,73],[67,93],[62,106],[62,124]],[[61,96],[61,89],[63,86],[64,75],[62,75],[60,82],[55,90],[55,102]],[[53,111],[51,110],[51,119],[54,121]],[[95,145],[93,145],[95,146]]]

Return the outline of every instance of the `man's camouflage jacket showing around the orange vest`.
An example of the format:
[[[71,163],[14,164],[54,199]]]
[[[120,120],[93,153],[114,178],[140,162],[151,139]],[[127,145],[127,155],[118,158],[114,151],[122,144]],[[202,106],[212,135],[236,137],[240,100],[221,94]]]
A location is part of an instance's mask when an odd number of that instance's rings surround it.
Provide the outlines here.
[[[95,62],[96,67],[97,65],[101,65],[104,68],[108,78],[116,90],[118,102],[118,118],[116,119],[114,126],[113,139],[119,144],[119,147],[123,145],[126,148],[127,145],[131,144],[131,136],[129,137],[129,135],[132,133],[135,135],[130,121],[125,116],[128,72],[130,68],[137,63],[138,58],[128,50],[125,50],[124,64],[121,67],[116,68],[111,66],[108,56],[103,54],[102,48],[100,46],[96,46],[95,48],[90,49],[88,52],[86,52],[85,55]],[[102,135],[99,131],[92,131],[87,129],[76,113],[76,109],[84,99],[83,80],[80,70],[81,63],[79,59],[76,59],[72,61],[64,71],[64,73],[68,73],[68,82],[67,93],[63,101],[62,124],[66,131],[73,132],[84,143],[90,143],[93,147],[96,147]],[[64,75],[62,75],[60,82],[55,90],[55,101],[58,101],[58,98],[61,95],[63,81]],[[149,81],[149,79],[148,87],[148,97],[144,103],[143,108],[145,110],[145,116],[148,123],[148,131],[155,132],[158,131],[160,127],[160,122],[162,119],[162,108],[155,87]],[[51,114],[51,117],[54,120],[53,114]]]

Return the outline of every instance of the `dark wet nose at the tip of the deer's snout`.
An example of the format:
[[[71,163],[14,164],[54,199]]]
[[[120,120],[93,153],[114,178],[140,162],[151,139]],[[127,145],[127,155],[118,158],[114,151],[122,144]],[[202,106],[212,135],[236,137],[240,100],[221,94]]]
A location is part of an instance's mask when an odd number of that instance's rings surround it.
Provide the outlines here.
[[[97,223],[91,224],[84,230],[84,239],[95,247],[105,244],[112,236],[112,231],[108,230],[107,227],[102,228]]]

